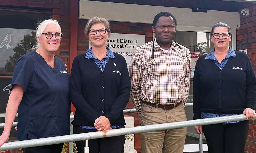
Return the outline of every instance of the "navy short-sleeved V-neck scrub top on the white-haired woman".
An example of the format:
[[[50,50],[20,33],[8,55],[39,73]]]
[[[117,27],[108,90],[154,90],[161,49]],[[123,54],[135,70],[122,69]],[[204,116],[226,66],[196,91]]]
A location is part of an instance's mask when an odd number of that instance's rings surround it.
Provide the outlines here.
[[[11,89],[14,84],[24,90],[18,140],[70,134],[69,75],[59,57],[52,68],[36,51],[24,54],[16,63]]]

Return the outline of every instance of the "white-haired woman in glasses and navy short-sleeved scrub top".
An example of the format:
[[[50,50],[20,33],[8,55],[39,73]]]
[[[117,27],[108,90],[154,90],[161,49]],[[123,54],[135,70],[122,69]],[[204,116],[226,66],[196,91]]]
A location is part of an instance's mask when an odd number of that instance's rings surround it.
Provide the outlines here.
[[[6,108],[0,146],[9,139],[19,112],[17,139],[29,140],[70,134],[69,75],[63,61],[54,55],[62,37],[56,20],[37,27],[37,45],[16,63]],[[60,153],[63,144],[24,148],[23,153]]]

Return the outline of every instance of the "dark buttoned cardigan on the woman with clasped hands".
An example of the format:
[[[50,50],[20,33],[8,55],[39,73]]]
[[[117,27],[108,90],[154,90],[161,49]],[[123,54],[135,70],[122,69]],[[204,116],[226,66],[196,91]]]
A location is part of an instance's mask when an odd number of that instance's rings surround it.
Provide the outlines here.
[[[109,58],[101,72],[94,60],[85,55],[78,55],[72,64],[69,96],[76,113],[71,124],[93,126],[95,119],[104,115],[111,126],[125,125],[123,110],[131,84],[124,57],[114,53],[115,59]]]

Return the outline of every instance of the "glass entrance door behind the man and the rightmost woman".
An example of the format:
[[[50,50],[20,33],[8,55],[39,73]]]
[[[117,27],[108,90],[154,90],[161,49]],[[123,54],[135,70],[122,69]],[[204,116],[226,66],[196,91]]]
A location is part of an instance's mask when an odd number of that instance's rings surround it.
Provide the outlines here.
[[[209,31],[209,30],[208,30]],[[189,99],[193,99],[193,75],[195,70],[195,65],[197,59],[209,53],[212,49],[214,49],[214,45],[211,42],[210,32],[192,32],[192,31],[176,31],[176,36],[174,41],[179,43],[182,46],[188,48],[191,52],[191,84],[189,90]],[[232,41],[229,43],[229,46],[232,48]],[[193,119],[193,106],[185,107],[185,113],[187,116],[187,120]],[[199,135],[195,132],[194,127],[188,127],[188,133],[185,141],[184,151],[185,150],[193,150],[199,149]],[[203,143],[204,150],[207,149],[206,140],[203,135]],[[189,144],[189,145],[188,145]],[[191,145],[194,144],[194,145]],[[187,146],[188,145],[188,146]],[[192,148],[191,148],[192,147]]]

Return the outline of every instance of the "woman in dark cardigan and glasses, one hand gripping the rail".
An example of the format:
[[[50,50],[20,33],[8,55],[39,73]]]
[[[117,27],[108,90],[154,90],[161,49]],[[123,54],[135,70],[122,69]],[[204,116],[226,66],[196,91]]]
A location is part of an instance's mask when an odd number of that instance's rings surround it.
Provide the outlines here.
[[[229,47],[230,28],[217,23],[211,30],[214,49],[201,56],[193,80],[193,119],[245,114],[256,109],[256,78],[247,54]],[[195,126],[205,134],[209,153],[243,153],[249,120]]]

